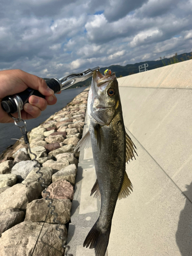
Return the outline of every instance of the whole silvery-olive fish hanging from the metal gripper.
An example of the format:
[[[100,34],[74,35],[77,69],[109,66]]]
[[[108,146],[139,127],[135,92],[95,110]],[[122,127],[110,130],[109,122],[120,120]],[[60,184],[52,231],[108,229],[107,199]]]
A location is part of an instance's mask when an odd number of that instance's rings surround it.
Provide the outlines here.
[[[97,179],[90,196],[101,198],[101,208],[83,246],[94,248],[96,256],[104,256],[117,199],[126,198],[133,191],[125,164],[137,155],[137,148],[125,131],[118,81],[111,70],[104,75],[94,71],[87,113],[89,131],[75,150],[92,146]]]

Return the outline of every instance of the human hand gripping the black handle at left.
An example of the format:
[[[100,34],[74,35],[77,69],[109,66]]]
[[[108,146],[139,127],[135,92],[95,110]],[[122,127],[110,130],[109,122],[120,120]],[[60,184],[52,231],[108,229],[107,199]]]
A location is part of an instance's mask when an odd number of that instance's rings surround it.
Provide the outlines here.
[[[47,108],[47,105],[53,105],[57,102],[54,91],[51,90],[44,79],[26,73],[22,70],[4,70],[0,71],[0,123],[14,122],[14,120],[2,109],[2,99],[6,96],[25,91],[28,87],[38,90],[44,98],[31,95],[29,103],[24,105],[21,111],[22,119],[32,119],[40,116],[41,111]],[[60,92],[59,92],[60,93]],[[12,114],[18,117],[18,114]]]

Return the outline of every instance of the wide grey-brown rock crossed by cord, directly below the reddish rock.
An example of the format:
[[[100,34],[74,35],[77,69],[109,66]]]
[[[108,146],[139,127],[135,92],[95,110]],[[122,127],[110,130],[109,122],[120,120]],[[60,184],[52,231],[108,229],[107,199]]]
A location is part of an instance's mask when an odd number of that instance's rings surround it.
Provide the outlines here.
[[[40,222],[45,221],[46,219],[47,223],[54,224],[54,216],[50,214],[50,211],[47,215],[49,210],[48,202],[49,201],[42,198],[33,200],[31,203],[29,203],[27,205],[25,221]],[[61,224],[66,224],[71,217],[71,201],[69,199],[54,199],[52,205],[55,206],[58,214],[57,220],[60,221]]]

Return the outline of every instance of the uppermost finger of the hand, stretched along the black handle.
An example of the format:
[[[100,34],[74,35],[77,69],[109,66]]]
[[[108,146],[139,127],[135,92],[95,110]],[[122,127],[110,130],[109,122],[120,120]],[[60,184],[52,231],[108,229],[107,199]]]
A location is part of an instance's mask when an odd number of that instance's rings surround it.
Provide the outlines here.
[[[51,96],[54,94],[54,91],[47,86],[47,83],[44,79],[32,74],[26,73],[25,71],[22,71],[22,70],[17,70],[17,73],[27,87],[30,87],[34,90],[38,90],[42,95],[45,95],[45,96]]]

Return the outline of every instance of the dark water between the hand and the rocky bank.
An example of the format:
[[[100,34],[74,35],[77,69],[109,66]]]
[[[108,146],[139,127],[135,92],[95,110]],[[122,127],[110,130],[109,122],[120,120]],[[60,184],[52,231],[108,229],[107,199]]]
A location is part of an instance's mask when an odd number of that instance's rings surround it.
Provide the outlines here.
[[[64,108],[72,99],[81,93],[85,88],[77,88],[77,89],[69,89],[63,90],[61,94],[55,94],[57,97],[57,103],[52,106],[47,106],[45,111],[41,112],[41,115],[35,119],[26,120],[27,122],[27,131],[31,131],[34,127],[38,126],[40,123],[44,122],[51,115],[55,114],[62,108]],[[0,123],[0,154],[6,148],[16,142],[16,140],[12,140],[12,138],[19,139],[22,137],[22,133],[20,129],[16,127],[14,123]]]

